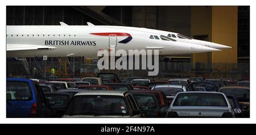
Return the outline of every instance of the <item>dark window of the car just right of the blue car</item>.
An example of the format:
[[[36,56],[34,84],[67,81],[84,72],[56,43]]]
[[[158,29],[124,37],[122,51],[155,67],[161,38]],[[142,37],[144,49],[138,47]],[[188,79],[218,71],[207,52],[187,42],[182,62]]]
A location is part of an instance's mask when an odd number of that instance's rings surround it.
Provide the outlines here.
[[[44,95],[47,99],[49,99],[49,104],[50,106],[53,107],[57,107],[57,106],[68,106],[68,95]]]

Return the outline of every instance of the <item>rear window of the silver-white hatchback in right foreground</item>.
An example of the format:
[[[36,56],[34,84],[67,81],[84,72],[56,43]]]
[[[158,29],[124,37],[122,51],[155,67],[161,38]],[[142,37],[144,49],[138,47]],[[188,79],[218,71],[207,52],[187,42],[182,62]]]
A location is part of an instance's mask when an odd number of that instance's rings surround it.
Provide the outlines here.
[[[224,95],[216,93],[180,93],[173,106],[228,106]]]

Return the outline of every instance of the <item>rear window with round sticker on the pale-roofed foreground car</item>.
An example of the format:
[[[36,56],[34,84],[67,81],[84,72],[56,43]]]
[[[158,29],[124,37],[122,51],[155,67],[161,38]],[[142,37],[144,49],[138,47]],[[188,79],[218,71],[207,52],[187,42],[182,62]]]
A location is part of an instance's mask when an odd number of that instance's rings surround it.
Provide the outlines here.
[[[125,99],[118,95],[78,95],[71,115],[129,115]]]

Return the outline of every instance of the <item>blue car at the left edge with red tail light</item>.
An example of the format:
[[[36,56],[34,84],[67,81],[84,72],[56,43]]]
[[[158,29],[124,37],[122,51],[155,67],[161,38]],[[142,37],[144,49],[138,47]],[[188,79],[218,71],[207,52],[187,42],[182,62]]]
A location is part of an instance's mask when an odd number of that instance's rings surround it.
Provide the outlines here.
[[[47,99],[30,79],[7,78],[6,117],[49,117]]]

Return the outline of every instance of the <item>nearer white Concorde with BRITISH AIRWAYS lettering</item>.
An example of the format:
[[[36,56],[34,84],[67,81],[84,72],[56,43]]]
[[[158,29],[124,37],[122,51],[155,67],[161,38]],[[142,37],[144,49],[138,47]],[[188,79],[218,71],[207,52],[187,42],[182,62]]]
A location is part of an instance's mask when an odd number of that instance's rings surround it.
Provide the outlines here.
[[[7,25],[7,57],[97,56],[98,51],[159,50],[159,55],[218,51],[155,32],[95,25]]]

